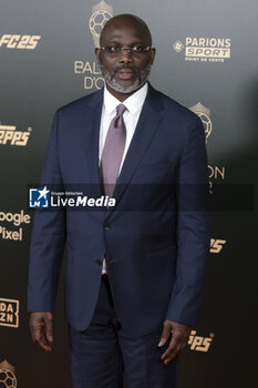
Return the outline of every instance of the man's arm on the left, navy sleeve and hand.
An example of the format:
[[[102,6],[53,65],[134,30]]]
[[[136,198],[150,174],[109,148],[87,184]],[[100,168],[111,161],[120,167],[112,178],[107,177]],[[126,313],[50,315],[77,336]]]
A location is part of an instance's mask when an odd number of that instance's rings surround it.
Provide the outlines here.
[[[62,190],[58,153],[58,113],[54,116],[41,185]],[[52,348],[53,306],[65,244],[65,211],[38,210],[34,215],[28,282],[28,312],[33,340],[44,350]]]

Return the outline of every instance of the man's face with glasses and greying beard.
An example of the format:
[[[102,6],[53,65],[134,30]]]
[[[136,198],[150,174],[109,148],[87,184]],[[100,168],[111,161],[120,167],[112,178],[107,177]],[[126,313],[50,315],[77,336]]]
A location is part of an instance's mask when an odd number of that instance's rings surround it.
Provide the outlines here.
[[[101,47],[104,48],[146,48],[149,39],[142,31],[141,25],[116,22],[102,34]],[[147,80],[154,61],[155,49],[143,53],[132,53],[127,50],[121,53],[110,53],[96,49],[96,58],[107,89],[117,93],[132,93],[140,89]]]

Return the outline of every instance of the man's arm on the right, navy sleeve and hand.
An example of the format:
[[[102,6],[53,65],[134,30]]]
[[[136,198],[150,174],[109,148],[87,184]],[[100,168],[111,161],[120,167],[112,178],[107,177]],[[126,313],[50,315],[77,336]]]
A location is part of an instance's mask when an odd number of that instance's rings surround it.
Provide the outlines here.
[[[198,321],[209,252],[208,163],[199,119],[189,130],[177,181],[177,264],[158,346],[172,334],[162,359],[168,364],[186,346]]]

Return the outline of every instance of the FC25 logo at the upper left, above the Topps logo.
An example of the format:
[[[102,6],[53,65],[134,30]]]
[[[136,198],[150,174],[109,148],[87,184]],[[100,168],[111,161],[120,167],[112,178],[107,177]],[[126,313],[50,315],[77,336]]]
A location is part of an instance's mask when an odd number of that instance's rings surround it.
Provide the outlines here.
[[[34,50],[40,39],[41,35],[16,35],[4,33],[0,38],[0,48]]]

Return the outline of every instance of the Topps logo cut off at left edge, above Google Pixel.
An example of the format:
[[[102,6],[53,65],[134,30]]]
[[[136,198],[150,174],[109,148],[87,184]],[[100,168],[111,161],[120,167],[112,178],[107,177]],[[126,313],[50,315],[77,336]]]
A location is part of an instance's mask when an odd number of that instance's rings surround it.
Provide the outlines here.
[[[30,137],[31,127],[27,131],[16,131],[14,125],[0,125],[0,144],[25,146]]]

